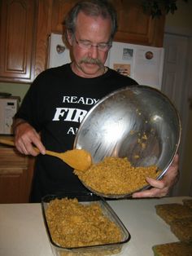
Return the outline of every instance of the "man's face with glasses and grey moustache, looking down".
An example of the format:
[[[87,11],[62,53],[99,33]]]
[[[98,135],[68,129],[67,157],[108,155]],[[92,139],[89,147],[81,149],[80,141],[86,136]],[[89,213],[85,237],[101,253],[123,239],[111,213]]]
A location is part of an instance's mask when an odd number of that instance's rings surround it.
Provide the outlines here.
[[[99,50],[98,45],[109,42],[111,20],[91,17],[80,12],[76,19],[76,32],[68,33],[68,42],[72,46],[72,70],[81,77],[98,77],[104,72],[108,48]],[[89,44],[89,47],[82,44]],[[90,46],[91,45],[91,46]]]

